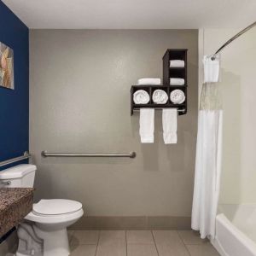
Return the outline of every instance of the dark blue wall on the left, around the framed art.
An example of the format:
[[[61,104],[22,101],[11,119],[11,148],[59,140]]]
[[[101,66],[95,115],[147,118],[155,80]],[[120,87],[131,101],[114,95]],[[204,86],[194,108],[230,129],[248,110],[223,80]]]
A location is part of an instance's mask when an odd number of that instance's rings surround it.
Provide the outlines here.
[[[15,90],[0,86],[0,161],[28,150],[28,28],[0,0],[0,41],[14,49]]]

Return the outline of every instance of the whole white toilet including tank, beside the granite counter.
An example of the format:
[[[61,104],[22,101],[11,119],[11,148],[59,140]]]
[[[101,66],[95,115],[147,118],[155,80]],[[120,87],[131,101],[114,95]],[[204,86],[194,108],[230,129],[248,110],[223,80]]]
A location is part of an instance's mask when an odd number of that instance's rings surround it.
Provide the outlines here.
[[[37,166],[19,165],[0,172],[0,187],[32,188]],[[47,188],[46,188],[47,189]],[[16,256],[67,256],[67,227],[84,214],[79,201],[50,199],[33,204],[17,231]]]

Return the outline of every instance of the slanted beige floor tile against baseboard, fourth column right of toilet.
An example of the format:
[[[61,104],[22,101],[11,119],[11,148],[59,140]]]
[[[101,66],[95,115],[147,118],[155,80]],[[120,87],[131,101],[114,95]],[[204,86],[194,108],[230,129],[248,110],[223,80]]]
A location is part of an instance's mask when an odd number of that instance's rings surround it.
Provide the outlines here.
[[[176,230],[154,230],[153,235],[159,256],[189,256]]]

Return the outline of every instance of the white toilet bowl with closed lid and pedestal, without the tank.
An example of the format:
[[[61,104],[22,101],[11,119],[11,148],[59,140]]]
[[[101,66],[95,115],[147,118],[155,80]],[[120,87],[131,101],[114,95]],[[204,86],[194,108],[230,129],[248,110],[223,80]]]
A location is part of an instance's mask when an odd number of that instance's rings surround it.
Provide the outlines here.
[[[44,256],[67,256],[67,227],[74,224],[83,214],[82,204],[78,201],[51,199],[34,204],[32,212],[26,215],[25,219],[32,222],[36,236],[43,240]],[[27,254],[19,254],[18,249],[16,255]]]

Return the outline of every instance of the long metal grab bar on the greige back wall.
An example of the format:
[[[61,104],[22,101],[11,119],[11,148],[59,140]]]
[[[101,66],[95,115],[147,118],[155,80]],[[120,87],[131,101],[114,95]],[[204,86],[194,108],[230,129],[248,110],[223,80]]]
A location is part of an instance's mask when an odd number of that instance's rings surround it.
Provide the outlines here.
[[[136,158],[136,152],[129,154],[82,154],[82,153],[49,153],[46,150],[42,151],[43,157],[130,157]]]

